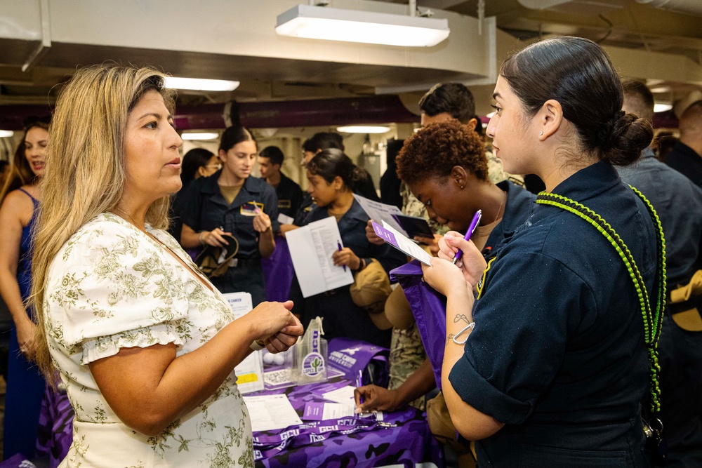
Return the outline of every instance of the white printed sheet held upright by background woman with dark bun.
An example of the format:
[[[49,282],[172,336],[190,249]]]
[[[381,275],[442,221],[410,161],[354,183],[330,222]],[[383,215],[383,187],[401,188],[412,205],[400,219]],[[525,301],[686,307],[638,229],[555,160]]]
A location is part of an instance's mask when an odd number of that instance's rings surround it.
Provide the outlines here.
[[[303,297],[353,283],[351,269],[334,265],[331,255],[343,247],[336,218],[310,222],[285,234]]]

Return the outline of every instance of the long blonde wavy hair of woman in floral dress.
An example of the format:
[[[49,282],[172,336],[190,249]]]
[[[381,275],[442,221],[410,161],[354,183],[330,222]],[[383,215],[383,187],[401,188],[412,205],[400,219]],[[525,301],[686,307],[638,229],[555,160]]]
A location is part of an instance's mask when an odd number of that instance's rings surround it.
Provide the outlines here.
[[[96,65],[79,69],[62,88],[49,134],[46,170],[41,180],[32,258],[32,296],[37,312],[35,361],[47,377],[53,368],[48,352],[44,295],[49,266],[58,250],[86,222],[112,210],[122,197],[124,134],[127,116],[147,91],[158,91],[174,112],[175,92],[164,86],[164,75],[151,68]],[[154,201],[146,222],[168,226],[168,203]],[[53,380],[53,379],[50,379]]]

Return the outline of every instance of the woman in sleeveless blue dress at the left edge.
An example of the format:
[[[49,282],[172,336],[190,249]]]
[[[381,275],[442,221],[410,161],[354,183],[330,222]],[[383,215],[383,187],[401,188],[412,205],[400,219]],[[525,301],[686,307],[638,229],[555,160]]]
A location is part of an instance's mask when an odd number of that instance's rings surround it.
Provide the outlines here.
[[[10,332],[8,382],[5,394],[4,451],[6,458],[23,453],[34,457],[39,410],[46,381],[32,359],[35,353],[34,313],[25,307],[32,288],[32,241],[41,200],[48,119],[30,119],[15,150],[11,173],[0,193],[0,293],[13,327]]]

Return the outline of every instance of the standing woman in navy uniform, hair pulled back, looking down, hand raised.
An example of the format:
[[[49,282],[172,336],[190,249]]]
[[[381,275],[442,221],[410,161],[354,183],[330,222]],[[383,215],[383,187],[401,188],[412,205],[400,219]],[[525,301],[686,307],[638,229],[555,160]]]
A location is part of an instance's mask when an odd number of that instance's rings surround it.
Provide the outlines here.
[[[265,300],[265,279],[261,257],[275,248],[278,199],[273,187],[250,177],[258,147],[253,135],[241,126],[227,128],[220,140],[219,158],[223,167],[207,178],[192,182],[181,218],[180,243],[185,248],[221,247],[234,236],[239,251],[225,274],[212,279],[223,293],[251,293],[253,305]]]

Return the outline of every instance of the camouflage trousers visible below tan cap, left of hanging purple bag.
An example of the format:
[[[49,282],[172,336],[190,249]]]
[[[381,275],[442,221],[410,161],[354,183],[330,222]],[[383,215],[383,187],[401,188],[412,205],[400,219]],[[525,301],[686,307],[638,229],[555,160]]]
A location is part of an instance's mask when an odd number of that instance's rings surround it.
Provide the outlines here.
[[[416,323],[404,330],[392,328],[390,341],[390,382],[388,389],[397,389],[427,359]],[[424,410],[424,395],[409,403]]]

